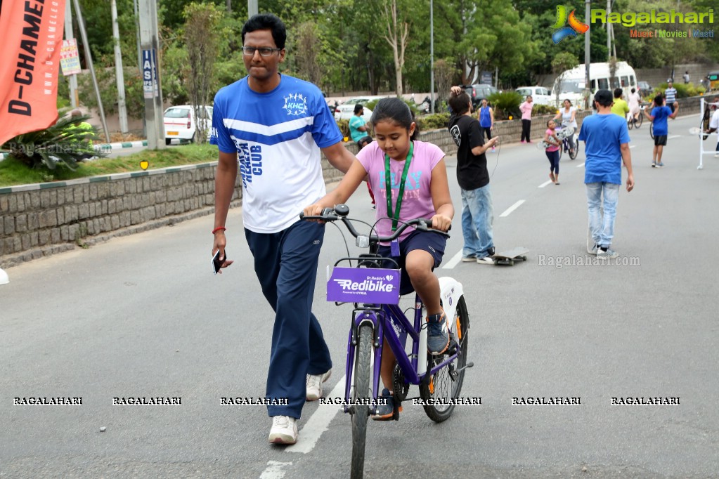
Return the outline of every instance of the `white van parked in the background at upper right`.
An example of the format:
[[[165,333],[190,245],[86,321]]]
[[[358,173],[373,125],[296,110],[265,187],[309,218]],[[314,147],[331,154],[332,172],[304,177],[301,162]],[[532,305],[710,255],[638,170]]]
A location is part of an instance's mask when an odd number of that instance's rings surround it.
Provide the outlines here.
[[[582,103],[586,83],[585,64],[579,65],[572,70],[566,70],[554,80],[554,87],[551,89],[552,98],[556,100],[559,90],[559,103],[565,99],[572,101],[572,105]],[[617,62],[613,81],[610,78],[609,63],[590,63],[589,65],[590,89],[592,95],[597,90],[614,90],[623,88],[625,95],[628,95],[632,88],[638,88],[636,73],[627,62]],[[559,82],[561,80],[561,83]]]

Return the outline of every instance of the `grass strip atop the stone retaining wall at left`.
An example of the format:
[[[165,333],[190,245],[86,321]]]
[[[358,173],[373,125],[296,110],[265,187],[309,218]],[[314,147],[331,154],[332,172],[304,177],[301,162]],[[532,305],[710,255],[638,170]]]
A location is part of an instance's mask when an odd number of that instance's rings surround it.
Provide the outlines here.
[[[186,144],[162,150],[144,150],[125,157],[101,158],[82,162],[74,171],[63,165],[54,170],[32,169],[14,157],[0,162],[0,187],[30,185],[53,181],[76,180],[78,178],[114,173],[142,171],[140,162],[147,161],[147,169],[180,167],[185,164],[214,162],[217,147],[211,144]]]

